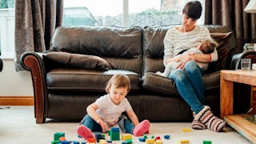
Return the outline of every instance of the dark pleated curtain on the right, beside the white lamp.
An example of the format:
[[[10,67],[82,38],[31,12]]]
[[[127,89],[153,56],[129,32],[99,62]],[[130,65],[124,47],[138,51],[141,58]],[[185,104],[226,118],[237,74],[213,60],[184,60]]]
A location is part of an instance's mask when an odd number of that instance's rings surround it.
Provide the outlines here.
[[[243,10],[249,0],[206,0],[205,24],[230,26],[237,38],[238,50],[245,42],[256,42],[256,14]]]

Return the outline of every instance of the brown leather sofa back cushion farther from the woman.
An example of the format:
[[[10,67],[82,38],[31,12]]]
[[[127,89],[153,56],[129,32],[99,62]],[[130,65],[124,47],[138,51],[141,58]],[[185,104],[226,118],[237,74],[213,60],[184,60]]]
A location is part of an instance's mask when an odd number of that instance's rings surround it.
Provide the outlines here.
[[[142,74],[142,28],[59,26],[51,50],[105,58],[113,69]]]

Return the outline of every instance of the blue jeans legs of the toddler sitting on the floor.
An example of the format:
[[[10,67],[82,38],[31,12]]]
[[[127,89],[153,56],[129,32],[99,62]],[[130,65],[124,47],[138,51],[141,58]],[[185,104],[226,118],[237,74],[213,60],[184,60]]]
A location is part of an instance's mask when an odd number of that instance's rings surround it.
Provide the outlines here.
[[[102,132],[102,126],[100,126],[97,122],[95,122],[93,118],[90,118],[88,114],[86,114],[86,116],[82,118],[80,125],[86,126],[91,131]],[[122,132],[133,134],[134,125],[125,116],[121,116],[119,118],[118,126],[120,127]]]

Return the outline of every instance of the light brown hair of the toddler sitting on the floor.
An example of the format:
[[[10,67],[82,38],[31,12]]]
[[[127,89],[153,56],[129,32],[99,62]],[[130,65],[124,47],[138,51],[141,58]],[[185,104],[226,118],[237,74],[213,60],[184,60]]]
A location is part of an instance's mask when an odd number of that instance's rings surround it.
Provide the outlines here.
[[[125,88],[130,91],[130,79],[126,74],[114,74],[106,85],[106,93],[110,93],[110,88]]]

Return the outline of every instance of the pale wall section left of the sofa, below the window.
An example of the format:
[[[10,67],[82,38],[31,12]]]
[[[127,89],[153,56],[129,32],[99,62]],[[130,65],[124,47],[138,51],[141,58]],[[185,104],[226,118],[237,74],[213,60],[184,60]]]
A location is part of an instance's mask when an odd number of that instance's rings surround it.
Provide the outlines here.
[[[13,59],[2,59],[3,69],[0,73],[0,97],[2,96],[34,96],[30,72],[17,72]]]

